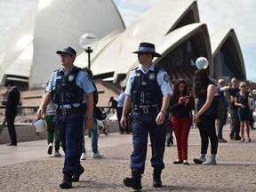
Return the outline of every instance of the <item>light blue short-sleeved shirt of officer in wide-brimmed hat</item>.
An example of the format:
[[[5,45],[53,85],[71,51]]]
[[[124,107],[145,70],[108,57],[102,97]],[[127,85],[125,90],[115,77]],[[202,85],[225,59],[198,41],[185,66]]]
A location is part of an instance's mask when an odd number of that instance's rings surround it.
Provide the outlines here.
[[[152,63],[150,68],[148,69],[149,70],[153,70],[155,71],[155,64]],[[144,69],[142,68],[142,65],[140,64],[140,66],[136,69],[137,71],[140,70],[142,71],[144,74],[146,74],[146,72],[144,71]],[[125,89],[125,94],[126,95],[129,95],[131,96],[132,92],[132,83],[134,81],[134,76],[136,74],[136,70],[132,70],[130,72],[130,76],[129,76],[129,79],[128,79],[128,83],[126,85],[126,89]],[[159,70],[158,73],[157,73],[157,76],[156,76],[156,80],[157,80],[157,83],[159,84],[160,86],[160,89],[161,89],[161,92],[163,95],[165,94],[172,94],[172,88],[169,84],[169,80],[168,80],[168,76],[167,76],[167,73],[166,71],[164,70]]]

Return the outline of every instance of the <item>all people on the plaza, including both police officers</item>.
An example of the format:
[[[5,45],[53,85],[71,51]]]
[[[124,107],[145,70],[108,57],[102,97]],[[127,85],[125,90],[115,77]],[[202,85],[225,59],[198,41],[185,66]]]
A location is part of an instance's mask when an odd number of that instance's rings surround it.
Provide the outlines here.
[[[72,188],[72,182],[79,181],[84,167],[80,160],[84,160],[86,150],[84,146],[85,129],[92,132],[92,158],[101,158],[103,154],[98,150],[98,132],[95,108],[98,103],[97,87],[92,83],[90,68],[77,68],[74,65],[76,51],[65,47],[56,52],[60,55],[62,67],[52,73],[45,89],[38,118],[44,118],[48,128],[47,153],[60,154],[60,146],[64,155],[62,168],[63,179],[60,188]],[[192,124],[196,124],[201,138],[199,156],[194,158],[195,164],[215,165],[219,142],[228,142],[223,138],[222,130],[226,124],[228,113],[231,116],[230,140],[248,140],[250,127],[253,128],[253,111],[255,101],[252,90],[245,82],[236,77],[227,85],[224,79],[215,84],[205,69],[196,70],[193,91],[188,91],[185,80],[171,81],[171,76],[163,68],[153,63],[155,57],[161,57],[156,52],[155,44],[140,43],[137,54],[139,67],[132,69],[127,84],[116,98],[116,111],[119,123],[119,133],[132,132],[132,154],[130,169],[131,177],[124,178],[124,185],[128,188],[141,189],[141,179],[145,172],[148,150],[148,136],[152,156],[153,187],[163,186],[161,174],[164,170],[164,149],[173,145],[176,140],[177,159],[173,164],[188,163],[188,136]],[[10,146],[17,145],[14,118],[10,115],[10,108],[17,111],[20,92],[12,82],[6,84],[9,96],[5,116],[10,133]],[[223,116],[216,116],[216,97],[225,102]],[[12,101],[11,101],[12,100]],[[8,107],[8,108],[7,108]],[[14,111],[15,111],[14,110]],[[246,138],[244,136],[244,129]],[[174,132],[174,136],[172,136]],[[207,149],[211,142],[211,154],[207,156]]]

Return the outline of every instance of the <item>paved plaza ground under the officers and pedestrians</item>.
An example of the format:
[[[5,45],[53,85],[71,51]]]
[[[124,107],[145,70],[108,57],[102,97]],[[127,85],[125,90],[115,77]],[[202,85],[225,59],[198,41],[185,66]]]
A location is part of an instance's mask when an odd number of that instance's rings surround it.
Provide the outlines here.
[[[175,140],[174,146],[165,148],[164,188],[152,187],[151,150],[148,146],[141,191],[256,191],[256,131],[251,131],[252,142],[245,140],[244,143],[229,140],[229,124],[224,127],[223,134],[228,142],[219,143],[218,165],[193,163],[193,158],[200,152],[197,128],[192,128],[189,133],[189,166],[172,164],[177,158]],[[133,191],[123,184],[123,179],[131,174],[132,135],[100,135],[99,148],[104,153],[102,159],[90,158],[91,139],[85,136],[85,140],[87,155],[82,161],[85,172],[68,192]],[[64,158],[49,156],[46,151],[46,140],[20,142],[17,147],[0,145],[0,191],[64,191],[59,188]]]

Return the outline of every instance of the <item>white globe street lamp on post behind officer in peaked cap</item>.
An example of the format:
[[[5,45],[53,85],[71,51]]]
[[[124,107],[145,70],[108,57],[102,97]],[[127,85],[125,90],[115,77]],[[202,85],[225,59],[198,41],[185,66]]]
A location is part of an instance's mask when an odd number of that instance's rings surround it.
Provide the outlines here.
[[[92,33],[86,33],[80,37],[79,44],[88,54],[88,68],[91,69],[91,53],[98,45],[98,38]]]

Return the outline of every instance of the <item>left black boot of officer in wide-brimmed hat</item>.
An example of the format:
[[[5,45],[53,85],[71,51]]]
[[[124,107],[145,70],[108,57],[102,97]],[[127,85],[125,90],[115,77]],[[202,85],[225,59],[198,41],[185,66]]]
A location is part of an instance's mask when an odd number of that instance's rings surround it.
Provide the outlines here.
[[[141,186],[141,173],[138,169],[132,169],[132,177],[124,179],[124,185],[129,188],[139,190]]]

